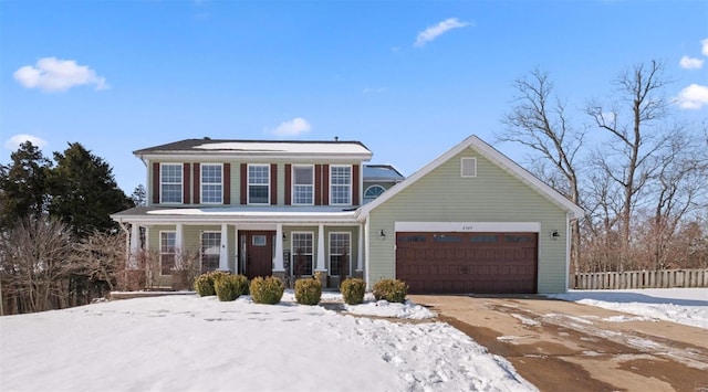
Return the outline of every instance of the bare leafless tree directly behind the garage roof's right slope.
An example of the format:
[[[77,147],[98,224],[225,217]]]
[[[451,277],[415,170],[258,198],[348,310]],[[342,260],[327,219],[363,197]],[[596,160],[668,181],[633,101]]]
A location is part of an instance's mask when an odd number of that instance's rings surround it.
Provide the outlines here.
[[[511,141],[530,148],[535,174],[575,204],[581,204],[579,155],[584,147],[585,134],[573,127],[564,104],[553,96],[553,83],[548,73],[535,68],[530,75],[513,83],[518,95],[511,113],[502,119],[506,130],[497,135],[498,141]],[[572,222],[571,259],[580,271],[580,224]]]

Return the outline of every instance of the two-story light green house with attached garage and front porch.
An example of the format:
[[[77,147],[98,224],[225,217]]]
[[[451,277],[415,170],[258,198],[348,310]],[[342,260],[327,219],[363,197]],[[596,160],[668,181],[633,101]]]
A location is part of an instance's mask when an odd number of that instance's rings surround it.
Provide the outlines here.
[[[159,254],[168,285],[202,271],[405,280],[410,293],[562,293],[583,211],[476,136],[405,178],[358,141],[188,139],[134,151],[148,204],[112,215],[128,265]],[[144,241],[140,241],[144,233]]]

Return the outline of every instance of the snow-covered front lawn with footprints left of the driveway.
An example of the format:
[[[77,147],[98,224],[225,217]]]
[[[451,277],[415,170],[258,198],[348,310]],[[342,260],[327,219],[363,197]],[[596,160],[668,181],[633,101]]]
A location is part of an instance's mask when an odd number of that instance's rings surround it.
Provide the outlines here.
[[[323,300],[341,300],[325,294]],[[503,358],[415,304],[351,312],[249,297],[135,298],[0,318],[2,391],[524,391]]]

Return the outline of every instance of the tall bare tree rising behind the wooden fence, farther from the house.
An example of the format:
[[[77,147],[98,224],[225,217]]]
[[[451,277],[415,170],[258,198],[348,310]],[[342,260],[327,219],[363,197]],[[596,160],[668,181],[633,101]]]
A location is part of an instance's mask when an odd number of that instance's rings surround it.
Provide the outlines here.
[[[608,135],[595,163],[622,190],[620,271],[629,257],[633,213],[643,200],[642,192],[662,167],[657,156],[670,144],[670,135],[676,130],[662,121],[669,105],[663,96],[668,83],[663,63],[637,64],[615,81],[615,100],[607,106],[591,102],[586,108],[596,126]]]

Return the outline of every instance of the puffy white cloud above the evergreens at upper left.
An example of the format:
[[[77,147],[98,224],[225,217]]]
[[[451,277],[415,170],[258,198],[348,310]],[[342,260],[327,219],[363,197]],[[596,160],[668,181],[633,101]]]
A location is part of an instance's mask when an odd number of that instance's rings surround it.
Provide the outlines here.
[[[27,88],[45,92],[63,92],[82,85],[94,85],[96,89],[108,88],[104,77],[86,65],[76,64],[74,60],[40,59],[35,66],[25,65],[15,71],[13,76]]]

